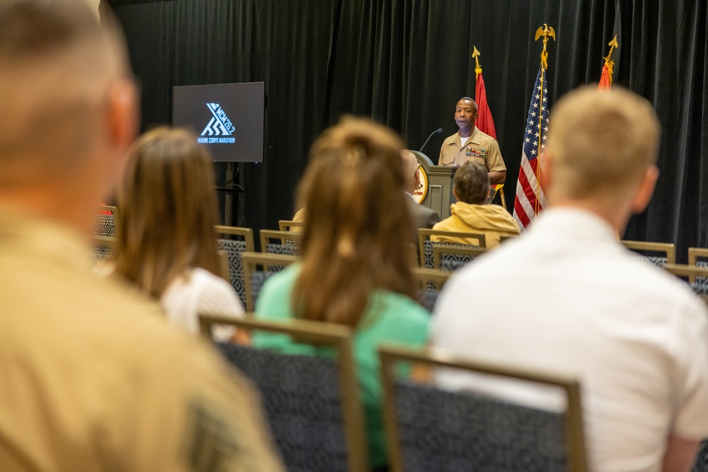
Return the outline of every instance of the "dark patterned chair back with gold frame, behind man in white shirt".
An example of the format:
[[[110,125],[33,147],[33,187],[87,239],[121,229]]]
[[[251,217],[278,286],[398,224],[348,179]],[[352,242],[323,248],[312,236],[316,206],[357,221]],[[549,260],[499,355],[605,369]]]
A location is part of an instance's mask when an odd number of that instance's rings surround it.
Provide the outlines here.
[[[399,347],[379,347],[379,357],[392,472],[588,470],[576,381]],[[567,408],[542,410],[416,384],[397,378],[401,362],[556,386],[564,391]]]

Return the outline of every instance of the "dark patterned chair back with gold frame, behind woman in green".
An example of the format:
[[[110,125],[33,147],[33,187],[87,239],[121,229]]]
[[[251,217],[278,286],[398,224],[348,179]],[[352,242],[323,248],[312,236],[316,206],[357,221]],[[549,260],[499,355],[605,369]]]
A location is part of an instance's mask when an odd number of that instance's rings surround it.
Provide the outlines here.
[[[265,416],[289,471],[368,471],[362,406],[348,328],[293,320],[233,320],[200,315],[202,334],[214,324],[282,333],[326,350],[323,357],[286,355],[231,343],[217,346],[261,390]]]

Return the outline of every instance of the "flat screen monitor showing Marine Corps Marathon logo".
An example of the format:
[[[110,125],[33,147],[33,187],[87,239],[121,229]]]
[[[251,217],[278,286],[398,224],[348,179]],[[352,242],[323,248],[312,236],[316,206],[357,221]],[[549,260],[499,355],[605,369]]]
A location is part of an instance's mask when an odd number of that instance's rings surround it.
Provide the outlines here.
[[[172,125],[187,127],[219,162],[263,162],[265,83],[177,86]]]

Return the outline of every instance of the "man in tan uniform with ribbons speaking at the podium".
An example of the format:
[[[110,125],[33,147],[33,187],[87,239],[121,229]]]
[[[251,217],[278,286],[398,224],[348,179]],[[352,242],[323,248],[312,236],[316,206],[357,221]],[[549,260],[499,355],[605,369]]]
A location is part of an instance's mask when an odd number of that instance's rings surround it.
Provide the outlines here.
[[[480,163],[487,168],[491,185],[504,183],[506,165],[499,143],[474,126],[476,120],[477,104],[472,98],[460,98],[455,106],[455,123],[459,131],[442,142],[438,166],[462,166],[467,161]]]

